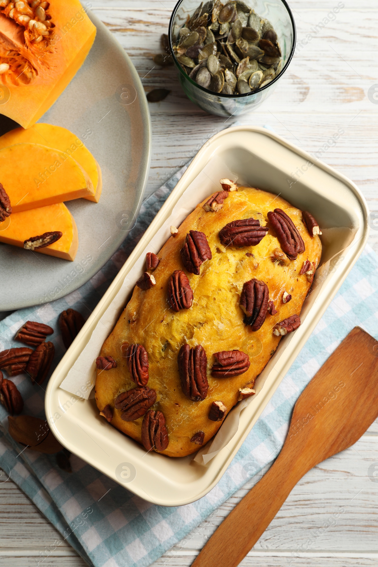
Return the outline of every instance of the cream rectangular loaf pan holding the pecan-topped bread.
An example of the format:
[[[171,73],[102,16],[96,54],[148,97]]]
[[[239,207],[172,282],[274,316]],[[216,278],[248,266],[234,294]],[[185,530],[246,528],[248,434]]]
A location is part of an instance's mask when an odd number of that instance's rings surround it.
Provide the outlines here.
[[[90,345],[91,337],[96,337],[97,330],[101,328],[100,319],[112,306],[130,270],[137,270],[136,277],[133,277],[134,284],[142,275],[146,252],[151,252],[150,241],[166,224],[166,232],[163,231],[162,239],[156,246],[158,252],[169,237],[169,225],[179,226],[188,215],[188,211],[183,215],[180,210],[176,213],[175,206],[189,185],[206,171],[212,158],[218,158],[227,167],[220,177],[228,177],[227,172],[235,172],[239,176],[239,183],[243,179],[243,183],[248,183],[250,187],[281,193],[280,197],[295,208],[311,211],[323,232],[320,265],[333,260],[328,272],[325,270],[323,274],[321,285],[304,302],[299,329],[283,337],[274,356],[258,376],[256,395],[240,413],[235,435],[206,466],[200,466],[193,462],[190,455],[169,459],[154,451],[146,454],[139,443],[113,428],[99,415],[94,399],[80,399],[60,386]],[[295,177],[293,172],[297,171],[304,173]],[[197,203],[217,188],[220,189],[220,177],[217,175],[211,181],[207,175],[202,175],[201,184],[193,189],[196,192],[203,189]],[[216,134],[199,150],[50,378],[45,396],[45,413],[56,438],[81,459],[149,502],[180,506],[205,496],[223,476],[358,259],[368,238],[367,218],[366,202],[352,181],[274,133],[262,128],[239,126]],[[337,230],[327,240],[325,235],[328,231],[323,229],[331,227]],[[350,244],[351,231],[354,232],[354,239]],[[348,244],[349,248],[344,249]],[[125,294],[122,309],[128,299],[128,294]],[[122,309],[115,311],[105,321],[104,337],[98,341],[94,359],[99,356],[101,346],[116,325]],[[231,417],[232,412],[229,415]],[[202,450],[206,451],[207,446]],[[121,477],[119,471],[124,466],[133,474]]]

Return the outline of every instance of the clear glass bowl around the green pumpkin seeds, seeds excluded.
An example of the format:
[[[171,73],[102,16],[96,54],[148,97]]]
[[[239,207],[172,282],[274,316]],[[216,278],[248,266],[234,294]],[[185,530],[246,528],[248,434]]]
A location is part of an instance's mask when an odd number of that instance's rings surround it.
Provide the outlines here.
[[[262,103],[273,91],[279,79],[286,71],[294,54],[296,31],[291,10],[285,0],[243,0],[243,3],[253,9],[261,18],[269,20],[278,36],[278,43],[282,53],[281,71],[264,87],[245,94],[226,95],[222,92],[213,92],[200,86],[191,79],[182,69],[173,53],[172,43],[176,41],[179,30],[184,26],[188,15],[192,16],[199,6],[200,0],[180,0],[172,12],[169,22],[168,41],[172,58],[179,71],[179,81],[186,96],[202,110],[216,116],[237,116],[250,112]],[[226,5],[227,1],[224,1]],[[238,3],[238,2],[236,2]]]

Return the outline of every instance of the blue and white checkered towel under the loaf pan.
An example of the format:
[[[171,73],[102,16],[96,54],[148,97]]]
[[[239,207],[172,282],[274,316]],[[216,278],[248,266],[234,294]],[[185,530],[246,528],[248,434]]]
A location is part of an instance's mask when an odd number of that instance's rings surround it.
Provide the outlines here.
[[[111,260],[77,291],[46,304],[14,312],[0,322],[3,345],[20,346],[13,340],[26,320],[54,328],[56,356],[63,356],[58,315],[73,307],[87,317],[117,270],[175,187],[183,170],[172,177],[142,206],[137,225]],[[143,567],[150,565],[182,539],[253,474],[275,459],[286,437],[291,411],[300,392],[349,331],[359,325],[378,338],[378,257],[366,248],[315,331],[301,350],[269,405],[250,431],[222,480],[201,500],[181,507],[162,507],[134,496],[78,456],[72,455],[73,473],[62,471],[55,455],[25,449],[7,433],[7,412],[0,407],[1,481],[11,478],[62,534],[51,551],[68,541],[95,567]],[[4,347],[3,347],[4,348]],[[0,349],[1,350],[1,349]],[[52,370],[53,370],[52,368]],[[32,386],[25,374],[12,378],[25,401],[24,413],[44,416],[44,388]],[[41,561],[49,551],[41,552]]]

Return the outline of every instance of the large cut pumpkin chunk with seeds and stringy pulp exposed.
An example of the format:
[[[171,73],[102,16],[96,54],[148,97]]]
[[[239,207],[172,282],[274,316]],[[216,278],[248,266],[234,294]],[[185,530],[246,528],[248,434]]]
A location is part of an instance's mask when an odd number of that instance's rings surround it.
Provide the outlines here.
[[[1,113],[30,128],[82,66],[96,28],[79,0],[0,5]]]

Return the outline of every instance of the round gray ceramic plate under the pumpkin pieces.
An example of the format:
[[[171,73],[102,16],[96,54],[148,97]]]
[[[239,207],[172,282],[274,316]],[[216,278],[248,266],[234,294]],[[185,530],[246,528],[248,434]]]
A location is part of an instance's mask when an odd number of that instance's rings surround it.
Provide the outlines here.
[[[100,202],[66,203],[78,226],[74,262],[0,243],[0,311],[53,301],[87,282],[133,227],[150,164],[150,114],[137,71],[93,14],[89,56],[40,122],[64,126],[86,144],[103,175]],[[0,107],[1,111],[1,107]],[[0,116],[0,134],[18,125]]]

